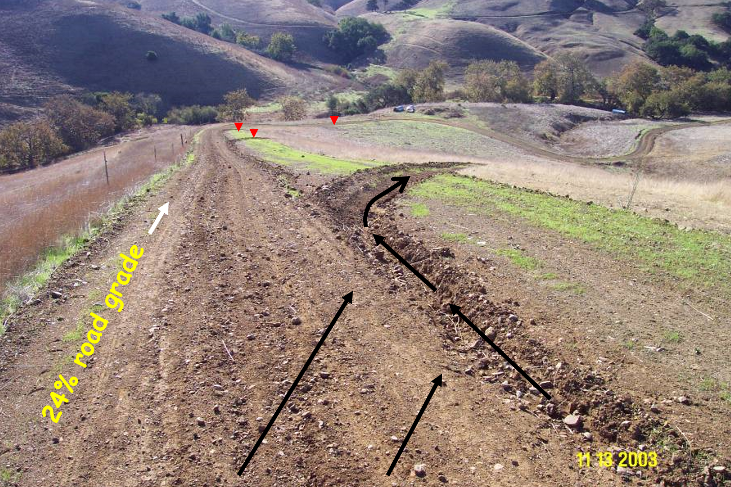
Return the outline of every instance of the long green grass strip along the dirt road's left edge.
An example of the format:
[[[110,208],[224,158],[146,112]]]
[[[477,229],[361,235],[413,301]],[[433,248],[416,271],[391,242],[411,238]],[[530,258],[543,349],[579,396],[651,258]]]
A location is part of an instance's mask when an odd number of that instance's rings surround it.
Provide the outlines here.
[[[5,333],[4,322],[7,317],[15,313],[24,300],[35,295],[48,282],[48,279],[50,279],[50,276],[56,271],[58,266],[69,260],[77,252],[85,249],[87,244],[106,230],[111,222],[118,218],[131,203],[147,193],[159,189],[173,173],[180,170],[181,167],[186,167],[194,162],[195,156],[193,149],[194,145],[200,141],[201,132],[199,131],[194,135],[193,144],[189,148],[188,153],[183,156],[181,162],[170,165],[161,172],[152,175],[145,184],[138,187],[131,195],[118,200],[96,222],[87,224],[86,230],[83,230],[77,235],[64,235],[59,238],[56,246],[52,246],[43,252],[31,271],[7,284],[7,291],[0,301],[0,335]]]

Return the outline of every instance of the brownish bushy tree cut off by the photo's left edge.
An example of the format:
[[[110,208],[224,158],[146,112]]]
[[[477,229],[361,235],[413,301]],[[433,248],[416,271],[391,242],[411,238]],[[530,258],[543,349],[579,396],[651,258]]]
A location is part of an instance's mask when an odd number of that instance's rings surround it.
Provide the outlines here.
[[[16,122],[0,132],[0,167],[3,169],[31,169],[68,150],[46,119]]]

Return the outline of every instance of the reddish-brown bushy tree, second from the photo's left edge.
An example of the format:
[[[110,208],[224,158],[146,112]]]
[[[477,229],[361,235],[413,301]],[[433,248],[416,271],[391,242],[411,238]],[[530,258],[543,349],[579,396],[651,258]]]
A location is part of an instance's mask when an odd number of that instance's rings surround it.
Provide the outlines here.
[[[73,151],[82,151],[114,133],[113,116],[69,95],[51,98],[44,111],[53,130]]]

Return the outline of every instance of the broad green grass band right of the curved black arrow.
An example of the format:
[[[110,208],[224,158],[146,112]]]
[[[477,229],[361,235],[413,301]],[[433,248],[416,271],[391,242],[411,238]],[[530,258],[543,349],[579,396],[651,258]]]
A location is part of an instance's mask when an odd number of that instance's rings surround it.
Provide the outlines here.
[[[442,174],[412,187],[420,200],[439,200],[472,212],[500,212],[534,227],[590,244],[613,257],[664,271],[688,284],[731,290],[731,238],[631,211],[553,197],[477,178]]]

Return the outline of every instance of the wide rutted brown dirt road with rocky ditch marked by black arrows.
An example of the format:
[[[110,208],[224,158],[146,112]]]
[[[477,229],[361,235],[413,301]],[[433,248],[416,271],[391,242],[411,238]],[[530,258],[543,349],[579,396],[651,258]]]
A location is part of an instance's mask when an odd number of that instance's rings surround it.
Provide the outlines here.
[[[20,474],[9,485],[437,486],[440,475],[456,486],[731,480],[727,408],[692,397],[689,405],[651,412],[613,380],[621,358],[580,363],[571,349],[548,346],[565,331],[521,311],[520,296],[491,301],[496,284],[482,266],[464,250],[455,256],[401,230],[392,203],[376,205],[363,229],[366,203],[403,167],[356,173],[292,198],[283,183],[323,181],[240,151],[220,128],[206,130],[194,165],[64,265],[12,318],[0,358],[0,465]],[[170,215],[150,236],[166,201]],[[371,232],[384,235],[437,292],[375,248]],[[77,320],[90,328],[85,310],[103,300],[118,254],[135,244],[145,250],[124,287],[124,311],[101,312],[109,325],[88,369],[64,365],[81,341],[61,338]],[[50,298],[50,290],[63,297]],[[350,291],[352,305],[238,477],[258,428]],[[552,401],[531,394],[491,350],[472,347],[476,337],[448,314],[447,303],[463,306],[480,327],[493,326],[496,342],[531,377],[553,382]],[[55,425],[40,412],[59,372],[79,384]],[[387,477],[439,374],[444,386]],[[662,390],[653,377],[640,380]],[[574,410],[593,442],[562,423]],[[622,421],[629,424],[620,427]],[[693,431],[692,448],[678,424],[684,434]],[[577,468],[582,448],[655,448],[651,431],[677,445],[660,455],[657,469],[626,477]],[[713,450],[701,456],[705,448]],[[722,463],[725,472],[703,471]],[[412,474],[414,464],[426,465],[426,477]]]

